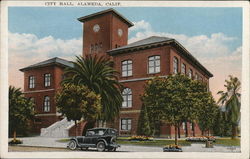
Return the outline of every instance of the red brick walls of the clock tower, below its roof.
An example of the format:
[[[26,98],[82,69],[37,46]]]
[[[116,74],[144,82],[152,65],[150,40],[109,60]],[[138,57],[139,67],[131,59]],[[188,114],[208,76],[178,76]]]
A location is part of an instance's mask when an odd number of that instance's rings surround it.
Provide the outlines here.
[[[100,30],[98,32],[93,31],[93,26],[98,24]],[[121,28],[123,35],[118,36],[117,30]],[[97,54],[106,55],[106,51],[115,48],[115,45],[124,46],[127,45],[128,40],[128,25],[117,18],[112,13],[106,13],[101,16],[97,16],[84,22],[83,25],[83,56],[90,53],[91,44],[102,43],[102,49],[97,51]]]

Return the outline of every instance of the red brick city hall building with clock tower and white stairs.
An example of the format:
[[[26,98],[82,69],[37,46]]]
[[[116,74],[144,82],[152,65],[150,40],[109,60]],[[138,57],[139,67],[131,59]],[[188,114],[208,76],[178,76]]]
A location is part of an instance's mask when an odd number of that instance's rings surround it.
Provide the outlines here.
[[[135,135],[144,92],[145,82],[152,77],[166,77],[183,73],[194,80],[201,80],[209,87],[213,75],[178,41],[168,37],[151,36],[128,44],[128,29],[133,23],[114,9],[108,9],[78,18],[83,25],[83,56],[97,54],[110,56],[114,68],[120,72],[119,82],[124,86],[123,103],[113,124],[119,135]],[[65,67],[73,67],[70,61],[55,57],[20,69],[24,72],[24,93],[35,103],[34,130],[43,134],[64,131],[73,134],[74,124],[67,122],[57,112],[54,96],[60,89]],[[82,121],[78,134],[84,129]],[[60,128],[59,128],[60,127]],[[188,132],[185,132],[186,128]],[[65,130],[64,130],[65,129]],[[174,127],[161,124],[162,136],[174,135]],[[197,124],[187,123],[180,127],[181,134],[201,134]],[[48,135],[49,136],[49,135]],[[52,135],[53,136],[53,135]]]

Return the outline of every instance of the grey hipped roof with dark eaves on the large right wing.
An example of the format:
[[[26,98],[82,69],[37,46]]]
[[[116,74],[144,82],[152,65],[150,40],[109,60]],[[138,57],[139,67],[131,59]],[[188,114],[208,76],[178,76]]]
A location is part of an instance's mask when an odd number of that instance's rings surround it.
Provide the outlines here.
[[[213,74],[210,73],[187,49],[185,49],[178,41],[175,39],[167,38],[167,37],[159,37],[159,36],[151,36],[149,38],[139,40],[137,42],[128,44],[126,46],[122,46],[119,48],[115,48],[107,51],[107,53],[111,56],[122,54],[131,51],[150,49],[154,47],[171,45],[179,50],[183,56],[193,62],[195,66],[204,71],[209,77],[213,77]]]

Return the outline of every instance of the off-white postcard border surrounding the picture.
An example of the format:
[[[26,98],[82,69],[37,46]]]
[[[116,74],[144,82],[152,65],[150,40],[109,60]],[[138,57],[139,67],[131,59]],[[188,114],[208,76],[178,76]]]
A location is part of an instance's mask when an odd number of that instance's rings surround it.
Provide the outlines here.
[[[54,1],[58,2],[58,1]],[[64,1],[66,2],[66,1]],[[76,2],[76,1],[72,1]],[[83,2],[83,1],[82,1]],[[106,3],[108,1],[100,1]],[[8,6],[44,6],[45,1],[2,1],[1,2],[1,54],[0,54],[0,122],[1,156],[4,158],[249,158],[249,3],[237,1],[115,1],[121,7],[242,7],[243,8],[243,56],[242,56],[242,109],[241,109],[241,153],[206,152],[8,152]],[[54,7],[54,6],[53,6]],[[60,6],[58,6],[60,7]],[[67,7],[67,6],[63,6]],[[72,6],[71,6],[72,7]],[[87,6],[90,7],[90,6]],[[106,6],[108,7],[108,6]],[[112,7],[112,6],[110,6]],[[115,6],[114,6],[115,7]],[[4,26],[4,27],[3,27]]]

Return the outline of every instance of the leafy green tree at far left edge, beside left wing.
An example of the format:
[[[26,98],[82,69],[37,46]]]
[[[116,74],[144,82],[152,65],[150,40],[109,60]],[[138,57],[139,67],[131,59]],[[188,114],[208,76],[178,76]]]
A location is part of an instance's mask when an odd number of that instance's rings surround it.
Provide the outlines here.
[[[9,132],[14,142],[17,133],[27,131],[34,117],[34,103],[23,96],[20,88],[9,86]]]

